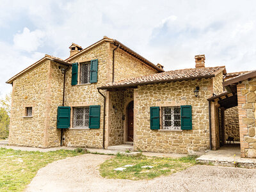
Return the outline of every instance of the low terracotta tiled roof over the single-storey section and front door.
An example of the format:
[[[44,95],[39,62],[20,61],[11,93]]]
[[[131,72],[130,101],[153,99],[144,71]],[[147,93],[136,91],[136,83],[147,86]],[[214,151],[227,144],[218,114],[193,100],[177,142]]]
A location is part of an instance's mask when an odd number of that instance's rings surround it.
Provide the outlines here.
[[[158,74],[148,76],[134,77],[131,79],[123,79],[115,83],[107,84],[98,89],[125,88],[134,87],[142,84],[165,83],[171,81],[182,81],[189,79],[202,79],[214,77],[219,72],[225,70],[225,66],[221,67],[204,67],[204,68],[185,68],[179,70],[170,70]]]

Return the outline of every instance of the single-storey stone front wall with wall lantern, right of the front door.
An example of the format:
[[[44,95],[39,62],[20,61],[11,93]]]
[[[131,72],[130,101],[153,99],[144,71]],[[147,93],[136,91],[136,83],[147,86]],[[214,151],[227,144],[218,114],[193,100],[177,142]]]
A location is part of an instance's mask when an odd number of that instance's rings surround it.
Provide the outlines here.
[[[196,86],[200,86],[198,97],[193,93]],[[211,95],[211,79],[138,86],[134,90],[134,149],[181,154],[208,149],[209,113],[206,99]],[[192,130],[150,129],[150,107],[181,105],[192,106]]]

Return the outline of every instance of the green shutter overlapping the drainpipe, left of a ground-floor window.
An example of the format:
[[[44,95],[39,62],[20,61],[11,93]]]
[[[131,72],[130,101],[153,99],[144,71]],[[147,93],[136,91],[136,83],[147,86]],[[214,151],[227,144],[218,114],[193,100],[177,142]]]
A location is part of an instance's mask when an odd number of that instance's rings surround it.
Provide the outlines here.
[[[70,127],[70,107],[58,107],[57,128],[67,129]]]

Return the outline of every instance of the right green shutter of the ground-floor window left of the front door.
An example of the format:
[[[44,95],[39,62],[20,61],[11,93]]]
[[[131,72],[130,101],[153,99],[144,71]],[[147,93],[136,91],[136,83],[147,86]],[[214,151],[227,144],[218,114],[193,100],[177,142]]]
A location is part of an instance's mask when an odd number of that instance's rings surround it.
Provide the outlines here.
[[[90,129],[100,128],[100,106],[90,106],[89,128]]]

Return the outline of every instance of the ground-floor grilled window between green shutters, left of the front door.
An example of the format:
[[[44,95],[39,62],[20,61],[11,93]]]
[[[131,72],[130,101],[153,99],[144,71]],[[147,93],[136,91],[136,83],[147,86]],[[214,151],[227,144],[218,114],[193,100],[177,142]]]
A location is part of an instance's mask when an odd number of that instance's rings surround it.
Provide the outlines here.
[[[73,127],[74,128],[89,128],[89,107],[74,108]]]

